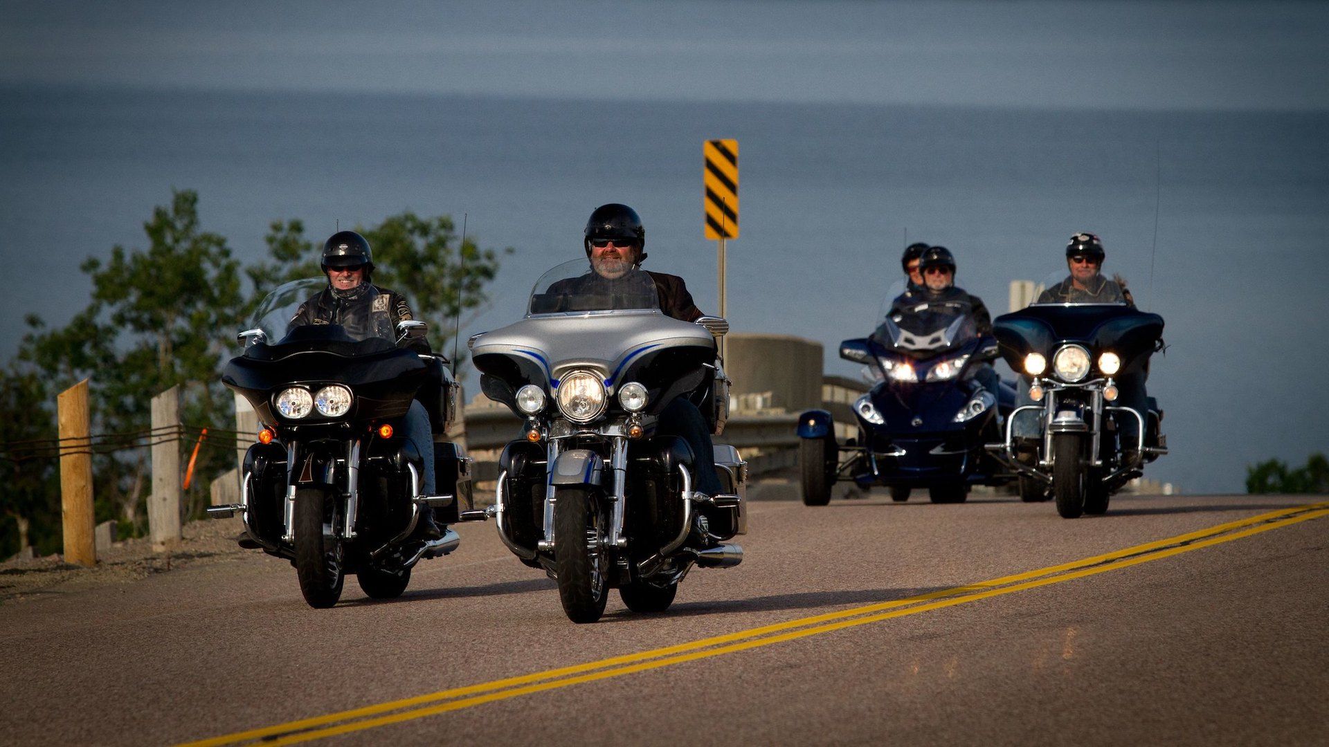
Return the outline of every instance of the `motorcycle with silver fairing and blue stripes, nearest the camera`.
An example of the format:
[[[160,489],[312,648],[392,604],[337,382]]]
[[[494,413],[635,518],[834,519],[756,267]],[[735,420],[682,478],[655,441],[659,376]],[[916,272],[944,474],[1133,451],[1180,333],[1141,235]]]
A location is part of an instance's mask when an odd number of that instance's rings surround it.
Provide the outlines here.
[[[655,433],[679,396],[723,429],[728,383],[716,339],[728,326],[671,319],[650,275],[607,278],[585,259],[546,272],[528,308],[469,342],[485,395],[525,423],[500,457],[498,537],[558,581],[574,622],[599,619],[611,587],[633,611],[663,611],[694,565],[743,558],[724,542],[746,532],[746,463],[716,445],[727,493],[702,496],[692,449]]]

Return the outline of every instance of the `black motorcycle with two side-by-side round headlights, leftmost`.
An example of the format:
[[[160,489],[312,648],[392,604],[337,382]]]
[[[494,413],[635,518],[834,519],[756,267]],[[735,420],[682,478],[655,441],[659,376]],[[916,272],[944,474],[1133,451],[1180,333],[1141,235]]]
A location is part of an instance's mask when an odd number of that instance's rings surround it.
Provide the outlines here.
[[[263,431],[245,455],[242,502],[207,512],[239,512],[242,546],[290,560],[314,607],[335,605],[348,573],[369,597],[395,598],[421,558],[455,550],[452,529],[433,541],[411,536],[423,505],[440,524],[457,521],[470,473],[455,444],[436,441],[443,494],[421,494],[424,463],[405,437],[412,400],[425,407],[435,433],[445,433],[456,412],[457,387],[441,356],[381,336],[356,339],[340,324],[290,327],[300,303],[326,287],[310,279],[276,288],[239,334],[245,352],[222,381],[254,405]],[[396,334],[423,326],[401,322]]]

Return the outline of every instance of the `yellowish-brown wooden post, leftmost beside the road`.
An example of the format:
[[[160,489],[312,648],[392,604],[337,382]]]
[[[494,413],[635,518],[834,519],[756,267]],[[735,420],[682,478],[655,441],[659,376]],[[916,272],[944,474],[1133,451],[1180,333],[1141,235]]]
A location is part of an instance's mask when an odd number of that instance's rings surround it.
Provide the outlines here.
[[[60,392],[56,397],[56,411],[61,437],[60,516],[64,524],[65,562],[97,565],[92,512],[88,379]]]

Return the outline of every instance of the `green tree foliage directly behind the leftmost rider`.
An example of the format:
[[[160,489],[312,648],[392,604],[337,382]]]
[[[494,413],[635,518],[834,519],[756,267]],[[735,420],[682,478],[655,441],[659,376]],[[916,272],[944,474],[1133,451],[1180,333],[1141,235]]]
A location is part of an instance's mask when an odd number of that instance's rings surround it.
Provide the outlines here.
[[[373,251],[373,284],[404,294],[416,318],[429,324],[433,348],[451,356],[449,340],[459,315],[474,312],[489,302],[485,286],[498,272],[500,251],[481,250],[469,235],[462,242],[448,215],[421,218],[405,211],[355,230]],[[280,283],[322,274],[323,245],[304,237],[303,222],[274,221],[266,241],[271,262],[246,270],[256,294],[251,306]],[[512,247],[502,250],[512,251]],[[462,316],[461,323],[469,319]],[[461,350],[459,355],[464,356]]]

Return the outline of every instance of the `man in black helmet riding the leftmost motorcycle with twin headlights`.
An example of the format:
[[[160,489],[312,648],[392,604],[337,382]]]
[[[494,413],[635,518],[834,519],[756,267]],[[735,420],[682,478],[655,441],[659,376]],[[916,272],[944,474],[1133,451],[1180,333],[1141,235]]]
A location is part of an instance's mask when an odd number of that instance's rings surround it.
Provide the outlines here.
[[[355,339],[385,338],[396,340],[399,322],[413,319],[411,304],[405,296],[369,282],[373,272],[373,254],[369,242],[355,231],[338,231],[323,243],[323,258],[319,263],[328,278],[328,287],[300,304],[291,319],[291,326],[302,324],[342,324]],[[399,347],[429,354],[429,342],[423,328],[411,330]],[[429,415],[419,400],[411,403],[405,419],[405,435],[415,443],[424,460],[421,494],[435,492],[433,432],[429,428]],[[420,506],[412,538],[437,540],[443,530],[433,518],[433,509]]]

